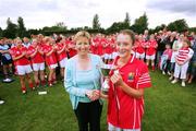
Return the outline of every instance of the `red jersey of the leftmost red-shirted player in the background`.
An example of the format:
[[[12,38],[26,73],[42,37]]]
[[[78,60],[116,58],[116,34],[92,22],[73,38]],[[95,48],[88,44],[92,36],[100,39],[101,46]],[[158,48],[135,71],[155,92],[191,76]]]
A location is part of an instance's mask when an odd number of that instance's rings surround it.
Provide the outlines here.
[[[14,46],[10,49],[10,53],[12,58],[19,57],[23,52],[26,53],[26,51],[27,51],[27,48],[24,46],[21,46],[21,47]],[[30,64],[30,62],[25,56],[14,61],[14,66],[27,66],[27,64]]]

